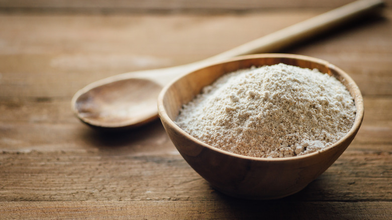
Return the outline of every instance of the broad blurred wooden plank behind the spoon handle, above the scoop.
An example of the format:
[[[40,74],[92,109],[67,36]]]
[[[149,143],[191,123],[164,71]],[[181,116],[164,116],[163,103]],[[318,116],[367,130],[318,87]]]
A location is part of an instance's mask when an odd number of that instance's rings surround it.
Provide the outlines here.
[[[197,61],[317,14],[0,15],[0,96],[70,97],[92,81]],[[330,61],[352,76],[363,95],[392,94],[385,83],[392,80],[391,23],[376,20],[339,33],[282,52]]]

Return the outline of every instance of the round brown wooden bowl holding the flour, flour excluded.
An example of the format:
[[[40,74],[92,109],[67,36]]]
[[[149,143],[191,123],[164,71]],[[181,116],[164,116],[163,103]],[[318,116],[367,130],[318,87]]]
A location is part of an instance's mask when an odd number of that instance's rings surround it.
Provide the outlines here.
[[[351,130],[332,146],[289,158],[238,155],[205,144],[173,121],[181,106],[225,73],[251,66],[284,63],[318,68],[341,81],[354,98],[356,116]],[[331,166],[354,139],[363,119],[363,99],[355,82],[338,67],[317,58],[290,54],[242,56],[190,72],[167,85],[158,97],[158,113],[175,147],[186,162],[217,190],[238,198],[276,199],[305,188]]]

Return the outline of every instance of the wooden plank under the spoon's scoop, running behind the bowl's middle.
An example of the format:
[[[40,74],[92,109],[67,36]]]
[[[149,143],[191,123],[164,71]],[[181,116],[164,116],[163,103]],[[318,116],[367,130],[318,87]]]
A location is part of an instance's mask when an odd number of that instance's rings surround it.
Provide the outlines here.
[[[392,97],[365,97],[365,117],[355,137],[355,145],[385,145],[392,143]],[[6,151],[29,151],[75,146],[93,148],[108,142],[107,137],[81,124],[70,109],[70,98],[7,98],[0,97],[0,149]],[[135,138],[135,139],[133,139]],[[93,139],[96,139],[95,141]],[[143,146],[164,143],[171,145],[159,120],[141,129],[117,136],[123,145],[132,143]],[[147,141],[151,140],[151,141]],[[118,144],[119,144],[118,143]],[[116,145],[115,142],[108,142]],[[72,145],[72,146],[69,146]],[[105,144],[104,144],[105,145]],[[56,147],[57,146],[57,147]],[[73,148],[72,148],[73,149]],[[64,149],[67,150],[67,149]]]

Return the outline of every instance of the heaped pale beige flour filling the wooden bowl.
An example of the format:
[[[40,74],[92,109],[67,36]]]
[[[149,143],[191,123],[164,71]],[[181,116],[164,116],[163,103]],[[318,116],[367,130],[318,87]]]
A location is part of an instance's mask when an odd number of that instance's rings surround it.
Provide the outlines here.
[[[183,105],[175,123],[219,149],[277,158],[331,146],[351,129],[355,113],[336,78],[277,64],[220,77]]]

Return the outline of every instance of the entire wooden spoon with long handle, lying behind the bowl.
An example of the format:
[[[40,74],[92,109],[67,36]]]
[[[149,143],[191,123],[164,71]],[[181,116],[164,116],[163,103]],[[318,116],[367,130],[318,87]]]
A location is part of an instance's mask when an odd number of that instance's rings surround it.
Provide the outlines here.
[[[174,78],[222,59],[277,51],[374,12],[383,5],[381,0],[356,1],[206,60],[128,72],[93,82],[76,92],[71,101],[72,110],[82,122],[96,128],[113,130],[144,125],[158,117],[158,94]]]

